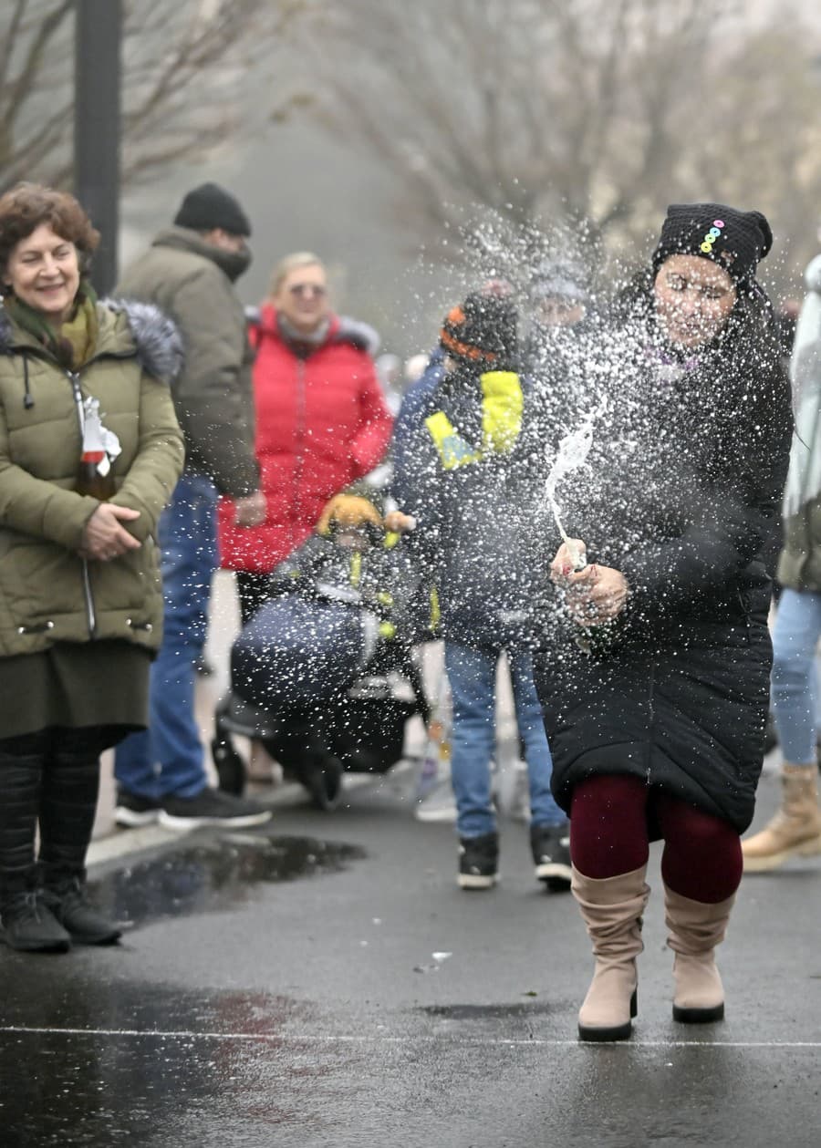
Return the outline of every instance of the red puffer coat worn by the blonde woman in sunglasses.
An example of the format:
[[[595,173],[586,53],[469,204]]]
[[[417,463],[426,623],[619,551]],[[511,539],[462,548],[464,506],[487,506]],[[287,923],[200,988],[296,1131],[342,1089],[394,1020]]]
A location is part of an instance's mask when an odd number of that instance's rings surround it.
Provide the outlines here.
[[[369,331],[371,328],[367,328]],[[377,466],[393,419],[363,325],[332,317],[318,347],[282,336],[272,307],[254,331],[256,453],[268,518],[235,527],[219,507],[219,550],[230,569],[269,573],[313,530],[333,495]]]

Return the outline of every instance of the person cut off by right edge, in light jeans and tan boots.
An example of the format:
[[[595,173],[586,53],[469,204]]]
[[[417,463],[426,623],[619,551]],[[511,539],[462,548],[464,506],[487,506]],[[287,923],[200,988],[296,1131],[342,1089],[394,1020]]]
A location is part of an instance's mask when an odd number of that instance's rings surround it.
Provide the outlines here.
[[[821,255],[806,270],[807,296],[796,328],[790,381],[796,412],[784,492],[782,590],[773,630],[772,698],[783,754],[781,807],[742,843],[744,872],[779,869],[821,853],[818,800],[816,650],[821,637]]]

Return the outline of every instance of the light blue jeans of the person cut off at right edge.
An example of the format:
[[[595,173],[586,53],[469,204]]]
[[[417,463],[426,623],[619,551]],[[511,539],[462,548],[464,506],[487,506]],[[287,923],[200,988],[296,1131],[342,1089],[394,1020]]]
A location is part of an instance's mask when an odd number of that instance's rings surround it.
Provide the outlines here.
[[[819,637],[821,594],[782,590],[773,630],[773,713],[784,760],[796,766],[815,766]]]

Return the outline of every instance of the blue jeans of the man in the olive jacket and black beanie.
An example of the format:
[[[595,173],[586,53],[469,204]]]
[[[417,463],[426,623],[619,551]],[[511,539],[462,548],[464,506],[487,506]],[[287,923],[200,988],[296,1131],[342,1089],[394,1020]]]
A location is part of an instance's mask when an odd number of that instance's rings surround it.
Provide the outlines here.
[[[160,517],[163,642],[150,670],[150,727],[119,744],[114,766],[122,789],[154,801],[195,797],[208,782],[194,683],[217,568],[216,509],[210,479],[184,474]]]

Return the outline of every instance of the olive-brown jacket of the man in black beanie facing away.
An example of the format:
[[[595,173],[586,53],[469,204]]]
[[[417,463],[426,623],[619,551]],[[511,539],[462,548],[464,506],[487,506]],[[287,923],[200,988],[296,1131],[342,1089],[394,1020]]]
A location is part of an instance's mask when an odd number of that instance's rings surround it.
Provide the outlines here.
[[[172,385],[185,434],[186,468],[234,498],[255,491],[254,398],[245,312],[234,280],[247,253],[226,251],[187,227],[169,227],[127,269],[118,292],[170,315],[185,348]]]

